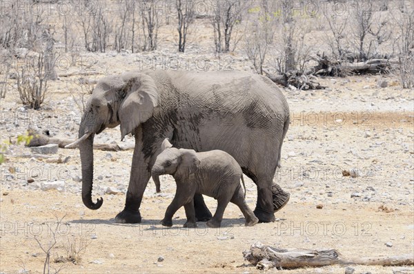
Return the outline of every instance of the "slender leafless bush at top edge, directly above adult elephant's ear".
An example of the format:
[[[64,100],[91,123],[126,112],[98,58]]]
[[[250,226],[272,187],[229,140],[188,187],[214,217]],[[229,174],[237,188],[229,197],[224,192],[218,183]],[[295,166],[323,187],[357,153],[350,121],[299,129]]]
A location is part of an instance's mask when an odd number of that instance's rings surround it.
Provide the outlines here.
[[[144,0],[141,2],[141,28],[144,45],[142,50],[157,50],[158,31],[161,25],[161,11],[157,9],[157,1]]]

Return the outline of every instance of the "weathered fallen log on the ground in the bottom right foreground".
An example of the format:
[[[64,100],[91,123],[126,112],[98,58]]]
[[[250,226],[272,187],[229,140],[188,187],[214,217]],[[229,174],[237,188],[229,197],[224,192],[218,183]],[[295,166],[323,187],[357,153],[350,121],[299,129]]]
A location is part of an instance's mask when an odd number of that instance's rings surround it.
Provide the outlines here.
[[[414,257],[411,255],[357,257],[348,259],[335,249],[278,249],[256,242],[250,250],[243,252],[244,260],[255,265],[258,269],[269,268],[301,268],[308,266],[328,266],[332,264],[363,264],[380,266],[413,265]]]

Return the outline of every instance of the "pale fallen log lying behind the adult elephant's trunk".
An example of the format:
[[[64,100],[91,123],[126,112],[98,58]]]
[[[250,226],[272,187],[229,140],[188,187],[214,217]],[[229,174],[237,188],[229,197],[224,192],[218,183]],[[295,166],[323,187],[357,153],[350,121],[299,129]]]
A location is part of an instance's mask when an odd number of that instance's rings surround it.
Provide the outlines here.
[[[47,131],[46,131],[47,132]],[[61,148],[65,148],[66,145],[75,142],[75,140],[69,140],[66,138],[53,138],[49,137],[47,134],[39,133],[28,129],[28,136],[33,136],[28,143],[28,147],[39,147],[41,145],[56,144]],[[134,149],[135,145],[118,145],[118,144],[93,144],[94,149],[99,149],[103,151],[124,151],[128,149]]]

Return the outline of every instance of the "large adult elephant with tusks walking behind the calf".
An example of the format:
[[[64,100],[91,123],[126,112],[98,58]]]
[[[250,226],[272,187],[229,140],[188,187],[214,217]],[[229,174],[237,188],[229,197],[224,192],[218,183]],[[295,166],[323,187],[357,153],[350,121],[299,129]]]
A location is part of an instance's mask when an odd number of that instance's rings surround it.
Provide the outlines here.
[[[286,98],[268,78],[246,72],[174,72],[150,70],[107,76],[96,85],[79,126],[82,200],[92,202],[93,139],[106,127],[121,125],[121,140],[135,135],[130,182],[116,222],[141,222],[139,206],[161,143],[233,156],[257,185],[255,215],[275,220],[289,194],[273,185],[289,125]],[[195,196],[197,220],[209,220],[201,195]]]

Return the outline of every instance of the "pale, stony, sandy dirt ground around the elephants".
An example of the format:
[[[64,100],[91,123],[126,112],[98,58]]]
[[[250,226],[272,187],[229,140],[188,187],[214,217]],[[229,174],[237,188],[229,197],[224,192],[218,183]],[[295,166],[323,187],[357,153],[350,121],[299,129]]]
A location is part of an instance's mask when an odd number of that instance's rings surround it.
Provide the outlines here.
[[[23,157],[30,149],[10,145],[8,161],[1,165],[1,273],[42,273],[46,255],[41,248],[47,250],[54,242],[52,231],[57,243],[50,251],[50,271],[63,267],[61,273],[260,273],[242,255],[255,242],[337,249],[346,257],[414,255],[413,91],[397,84],[377,88],[375,76],[322,81],[328,90],[285,89],[293,118],[275,182],[291,196],[273,223],[245,227],[241,212],[230,204],[221,229],[208,229],[204,223],[183,229],[184,209],[177,212],[174,226],[165,228],[159,220],[172,200],[175,183],[164,178],[159,194],[152,181],[148,183],[141,224],[115,224],[113,218],[124,207],[132,151],[95,150],[93,197],[102,196],[104,202],[101,209],[90,211],[81,202],[81,183],[76,182],[77,149],[59,149],[58,156],[70,159],[50,163],[48,158]],[[61,101],[61,111],[69,112],[71,100],[61,90],[47,105]],[[3,116],[20,113],[12,97],[1,108]],[[39,113],[25,111],[29,117]],[[55,111],[43,110],[50,112]],[[26,130],[22,121],[16,126],[3,120],[1,138],[13,139]],[[76,124],[38,126],[57,136],[77,134]],[[119,129],[106,129],[97,142],[119,143],[119,135]],[[344,170],[356,170],[357,177],[342,176]],[[28,183],[29,178],[34,182]],[[65,190],[41,190],[42,182],[53,180],[65,182]],[[108,187],[119,193],[107,194]],[[248,204],[254,208],[256,189],[247,178],[246,189]],[[214,211],[215,200],[206,200]],[[58,227],[56,218],[63,218]],[[55,262],[71,254],[76,263]],[[344,273],[344,268],[268,272]],[[353,268],[355,273],[414,271],[412,266]]]

